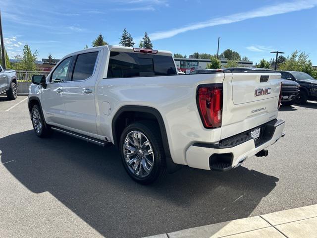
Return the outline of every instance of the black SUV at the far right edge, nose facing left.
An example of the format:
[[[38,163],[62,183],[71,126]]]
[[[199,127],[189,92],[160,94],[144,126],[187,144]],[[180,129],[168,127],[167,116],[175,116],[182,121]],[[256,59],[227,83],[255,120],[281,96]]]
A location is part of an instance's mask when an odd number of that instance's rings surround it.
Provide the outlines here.
[[[300,85],[300,92],[295,102],[297,104],[305,104],[307,100],[317,100],[317,79],[311,75],[297,71],[278,71],[282,78],[293,80]]]

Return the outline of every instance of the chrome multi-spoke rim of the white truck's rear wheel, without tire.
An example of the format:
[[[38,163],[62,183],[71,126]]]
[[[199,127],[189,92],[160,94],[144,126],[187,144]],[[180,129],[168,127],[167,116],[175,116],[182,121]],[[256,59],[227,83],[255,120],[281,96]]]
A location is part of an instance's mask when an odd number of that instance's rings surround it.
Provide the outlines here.
[[[123,142],[123,155],[129,170],[144,178],[150,175],[154,164],[154,152],[149,139],[140,131],[130,131]]]

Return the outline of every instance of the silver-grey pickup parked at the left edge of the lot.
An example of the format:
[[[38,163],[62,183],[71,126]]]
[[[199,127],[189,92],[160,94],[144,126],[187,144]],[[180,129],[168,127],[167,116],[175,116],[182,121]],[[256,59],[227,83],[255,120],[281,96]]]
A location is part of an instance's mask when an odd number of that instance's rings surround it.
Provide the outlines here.
[[[0,65],[0,94],[6,93],[8,99],[14,100],[18,96],[16,72],[3,69]]]

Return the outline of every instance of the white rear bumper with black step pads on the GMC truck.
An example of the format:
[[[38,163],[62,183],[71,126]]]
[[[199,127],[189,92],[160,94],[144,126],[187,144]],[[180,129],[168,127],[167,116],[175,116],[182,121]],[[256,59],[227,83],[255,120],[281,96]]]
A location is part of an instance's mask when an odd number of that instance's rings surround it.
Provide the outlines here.
[[[240,166],[246,159],[256,155],[284,136],[285,121],[271,120],[261,127],[261,136],[256,141],[250,136],[250,131],[234,135],[219,142],[219,144],[195,143],[186,151],[189,167],[227,171]]]

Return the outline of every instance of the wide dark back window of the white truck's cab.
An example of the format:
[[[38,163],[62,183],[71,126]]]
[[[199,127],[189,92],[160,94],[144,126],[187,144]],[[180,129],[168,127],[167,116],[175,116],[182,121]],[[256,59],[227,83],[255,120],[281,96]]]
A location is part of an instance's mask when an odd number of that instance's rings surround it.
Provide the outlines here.
[[[176,75],[170,56],[110,52],[107,78]]]

